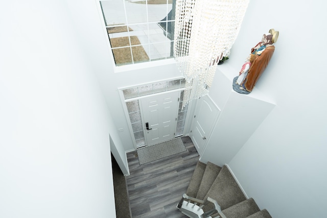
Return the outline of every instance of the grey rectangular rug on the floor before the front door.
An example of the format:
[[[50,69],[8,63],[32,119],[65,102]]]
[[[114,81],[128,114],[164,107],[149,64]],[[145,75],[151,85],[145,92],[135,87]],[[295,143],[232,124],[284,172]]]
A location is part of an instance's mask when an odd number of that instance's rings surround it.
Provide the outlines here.
[[[137,149],[139,164],[149,163],[164,157],[169,157],[186,151],[181,138],[153,144],[153,146]]]

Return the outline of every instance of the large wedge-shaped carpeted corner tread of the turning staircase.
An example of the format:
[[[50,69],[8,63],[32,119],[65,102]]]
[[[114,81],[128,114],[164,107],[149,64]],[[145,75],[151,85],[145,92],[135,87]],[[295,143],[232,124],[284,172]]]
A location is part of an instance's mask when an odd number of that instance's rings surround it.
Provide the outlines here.
[[[208,190],[205,198],[207,197],[215,199],[220,205],[221,210],[246,200],[241,188],[225,165],[222,167],[214,183]],[[212,209],[212,206],[207,205],[203,209],[207,211]]]

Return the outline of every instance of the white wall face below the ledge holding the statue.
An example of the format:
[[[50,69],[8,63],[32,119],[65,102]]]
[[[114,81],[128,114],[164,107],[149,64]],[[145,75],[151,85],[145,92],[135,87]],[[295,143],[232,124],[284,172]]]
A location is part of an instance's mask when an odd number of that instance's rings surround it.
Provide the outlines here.
[[[220,166],[228,163],[275,107],[269,102],[251,98],[254,95],[254,92],[240,95],[229,87],[228,101],[200,156],[202,162],[210,161]]]

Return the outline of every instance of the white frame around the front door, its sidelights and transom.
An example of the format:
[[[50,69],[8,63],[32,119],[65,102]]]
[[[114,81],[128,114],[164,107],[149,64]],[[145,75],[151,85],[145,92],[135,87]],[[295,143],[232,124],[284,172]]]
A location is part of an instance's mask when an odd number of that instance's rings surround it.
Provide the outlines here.
[[[171,80],[174,80],[174,79],[171,79]],[[167,80],[167,81],[169,81],[169,80]],[[136,85],[136,86],[140,86],[140,85],[143,85],[143,84],[139,84],[139,85]],[[128,124],[129,134],[130,134],[130,137],[132,138],[134,150],[136,151],[137,144],[136,144],[136,140],[135,140],[135,137],[134,137],[134,134],[133,134],[132,124],[131,124],[131,121],[130,121],[130,118],[129,118],[129,114],[128,114],[126,102],[132,102],[132,101],[135,101],[135,100],[141,100],[141,99],[144,99],[144,98],[148,98],[149,96],[155,96],[155,95],[159,95],[159,94],[162,94],[162,93],[169,93],[169,92],[175,92],[175,91],[178,91],[179,92],[179,96],[180,96],[180,92],[183,91],[183,90],[185,90],[185,87],[178,88],[178,89],[173,89],[173,90],[169,90],[169,91],[158,92],[158,93],[154,93],[154,94],[148,94],[148,95],[138,96],[138,97],[131,98],[131,99],[125,99],[123,90],[124,89],[128,89],[128,88],[132,88],[132,87],[135,87],[135,86],[119,88],[118,91],[119,91],[119,95],[120,95],[121,102],[122,102],[122,105],[123,105],[123,109],[124,109],[124,113],[125,113],[125,118],[126,118],[126,121],[127,121],[127,124]],[[140,104],[141,101],[138,101],[138,103]],[[191,105],[189,105],[189,109],[190,109],[190,106]],[[186,125],[189,125],[189,122],[188,122],[188,120],[189,120],[188,118],[189,118],[189,115],[190,115],[189,109],[186,112],[186,118],[185,118],[184,127]],[[176,113],[178,115],[178,109],[177,109]],[[142,120],[142,126],[143,126],[143,124],[144,124],[143,115],[141,115],[141,120]],[[176,125],[177,125],[177,122],[176,122]],[[176,130],[176,125],[175,125],[175,130]],[[143,132],[145,134],[145,128],[143,128]],[[184,131],[183,131],[183,135],[184,134],[185,134],[185,128],[184,128]],[[145,146],[148,146],[148,145],[146,144]]]

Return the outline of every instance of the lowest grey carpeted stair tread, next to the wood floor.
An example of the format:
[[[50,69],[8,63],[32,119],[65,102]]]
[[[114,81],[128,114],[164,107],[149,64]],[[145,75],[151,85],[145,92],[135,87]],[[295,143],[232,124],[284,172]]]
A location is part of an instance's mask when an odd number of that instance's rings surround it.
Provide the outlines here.
[[[193,172],[188,190],[186,190],[186,195],[195,198],[198,192],[198,188],[201,184],[201,180],[206,168],[206,164],[200,161],[197,162],[196,167]]]

